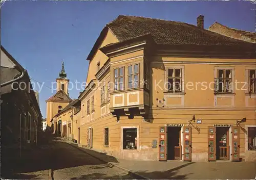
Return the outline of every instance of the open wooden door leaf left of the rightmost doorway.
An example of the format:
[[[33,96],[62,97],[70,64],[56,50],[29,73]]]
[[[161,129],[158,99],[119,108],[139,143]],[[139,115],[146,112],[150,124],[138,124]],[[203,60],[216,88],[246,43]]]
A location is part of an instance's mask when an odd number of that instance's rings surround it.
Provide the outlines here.
[[[208,161],[216,161],[216,127],[208,126]]]

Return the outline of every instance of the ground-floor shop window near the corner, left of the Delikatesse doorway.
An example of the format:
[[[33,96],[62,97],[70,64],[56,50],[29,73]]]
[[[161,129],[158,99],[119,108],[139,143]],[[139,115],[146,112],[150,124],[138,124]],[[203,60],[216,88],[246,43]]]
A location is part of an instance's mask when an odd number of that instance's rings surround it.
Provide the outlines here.
[[[123,128],[123,149],[137,149],[137,128]]]

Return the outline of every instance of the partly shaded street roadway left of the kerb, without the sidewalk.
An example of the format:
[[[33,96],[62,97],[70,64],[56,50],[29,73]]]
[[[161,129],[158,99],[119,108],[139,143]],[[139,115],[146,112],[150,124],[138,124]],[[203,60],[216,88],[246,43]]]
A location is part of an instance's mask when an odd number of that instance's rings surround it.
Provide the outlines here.
[[[16,165],[16,166],[15,166]],[[134,179],[129,173],[106,164],[65,142],[53,141],[33,150],[15,164],[9,179]]]

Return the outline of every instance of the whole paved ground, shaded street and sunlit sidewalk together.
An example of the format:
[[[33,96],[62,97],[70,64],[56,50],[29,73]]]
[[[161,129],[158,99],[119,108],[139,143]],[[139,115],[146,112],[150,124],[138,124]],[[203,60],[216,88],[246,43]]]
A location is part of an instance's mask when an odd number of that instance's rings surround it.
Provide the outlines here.
[[[9,179],[254,179],[255,162],[117,160],[97,151],[51,141],[12,164]]]

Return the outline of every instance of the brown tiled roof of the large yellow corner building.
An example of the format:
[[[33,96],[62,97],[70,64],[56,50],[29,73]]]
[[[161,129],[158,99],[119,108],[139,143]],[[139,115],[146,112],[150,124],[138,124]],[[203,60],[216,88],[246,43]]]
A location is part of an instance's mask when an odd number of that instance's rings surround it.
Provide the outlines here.
[[[151,34],[157,44],[243,45],[245,41],[229,38],[185,22],[119,15],[106,27],[119,41]]]

